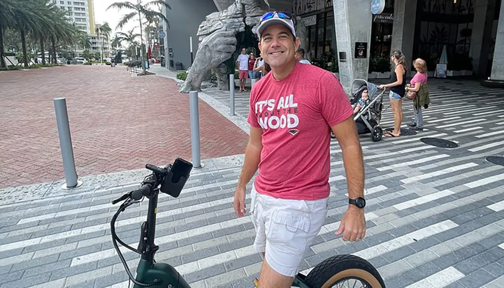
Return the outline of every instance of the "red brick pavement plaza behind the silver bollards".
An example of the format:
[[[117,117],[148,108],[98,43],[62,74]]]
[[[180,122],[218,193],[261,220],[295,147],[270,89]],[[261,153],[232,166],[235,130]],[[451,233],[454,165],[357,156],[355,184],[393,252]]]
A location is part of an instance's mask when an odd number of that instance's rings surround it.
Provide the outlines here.
[[[53,98],[65,97],[79,176],[191,160],[188,94],[123,67],[0,72],[0,187],[64,178]],[[201,158],[244,153],[247,135],[199,102]]]

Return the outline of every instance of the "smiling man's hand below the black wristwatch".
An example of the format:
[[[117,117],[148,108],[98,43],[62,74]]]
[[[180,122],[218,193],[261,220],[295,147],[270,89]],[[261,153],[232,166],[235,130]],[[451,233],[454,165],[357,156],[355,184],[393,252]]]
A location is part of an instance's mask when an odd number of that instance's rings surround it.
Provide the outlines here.
[[[366,235],[366,219],[364,210],[350,205],[343,215],[340,222],[340,228],[336,231],[336,235],[343,233],[344,241],[359,241],[364,239]]]

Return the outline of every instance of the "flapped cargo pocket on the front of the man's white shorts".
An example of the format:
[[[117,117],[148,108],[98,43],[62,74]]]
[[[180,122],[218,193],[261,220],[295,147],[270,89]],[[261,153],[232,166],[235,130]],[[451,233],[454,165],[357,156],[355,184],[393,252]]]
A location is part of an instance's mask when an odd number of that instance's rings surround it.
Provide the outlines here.
[[[275,210],[267,233],[275,249],[301,255],[306,249],[310,219],[306,213],[293,210]]]

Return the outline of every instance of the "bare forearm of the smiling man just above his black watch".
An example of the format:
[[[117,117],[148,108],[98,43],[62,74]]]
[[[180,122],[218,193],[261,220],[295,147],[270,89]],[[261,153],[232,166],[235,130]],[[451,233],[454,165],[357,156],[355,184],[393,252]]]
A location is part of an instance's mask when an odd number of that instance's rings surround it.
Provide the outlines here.
[[[359,143],[355,143],[342,149],[343,164],[348,185],[348,197],[356,199],[364,197],[364,160],[362,158],[362,148]]]

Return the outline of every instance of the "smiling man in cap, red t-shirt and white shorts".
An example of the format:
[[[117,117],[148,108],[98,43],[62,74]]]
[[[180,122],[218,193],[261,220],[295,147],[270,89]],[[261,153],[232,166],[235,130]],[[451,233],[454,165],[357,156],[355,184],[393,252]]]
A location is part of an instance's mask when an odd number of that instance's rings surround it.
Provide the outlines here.
[[[245,215],[245,185],[259,168],[250,207],[254,248],[266,260],[259,287],[287,288],[326,220],[331,131],[348,182],[349,206],[336,232],[345,241],[365,236],[364,165],[353,110],[338,79],[295,59],[300,40],[291,15],[266,13],[257,33],[271,72],[250,93],[250,137],[234,209]]]

